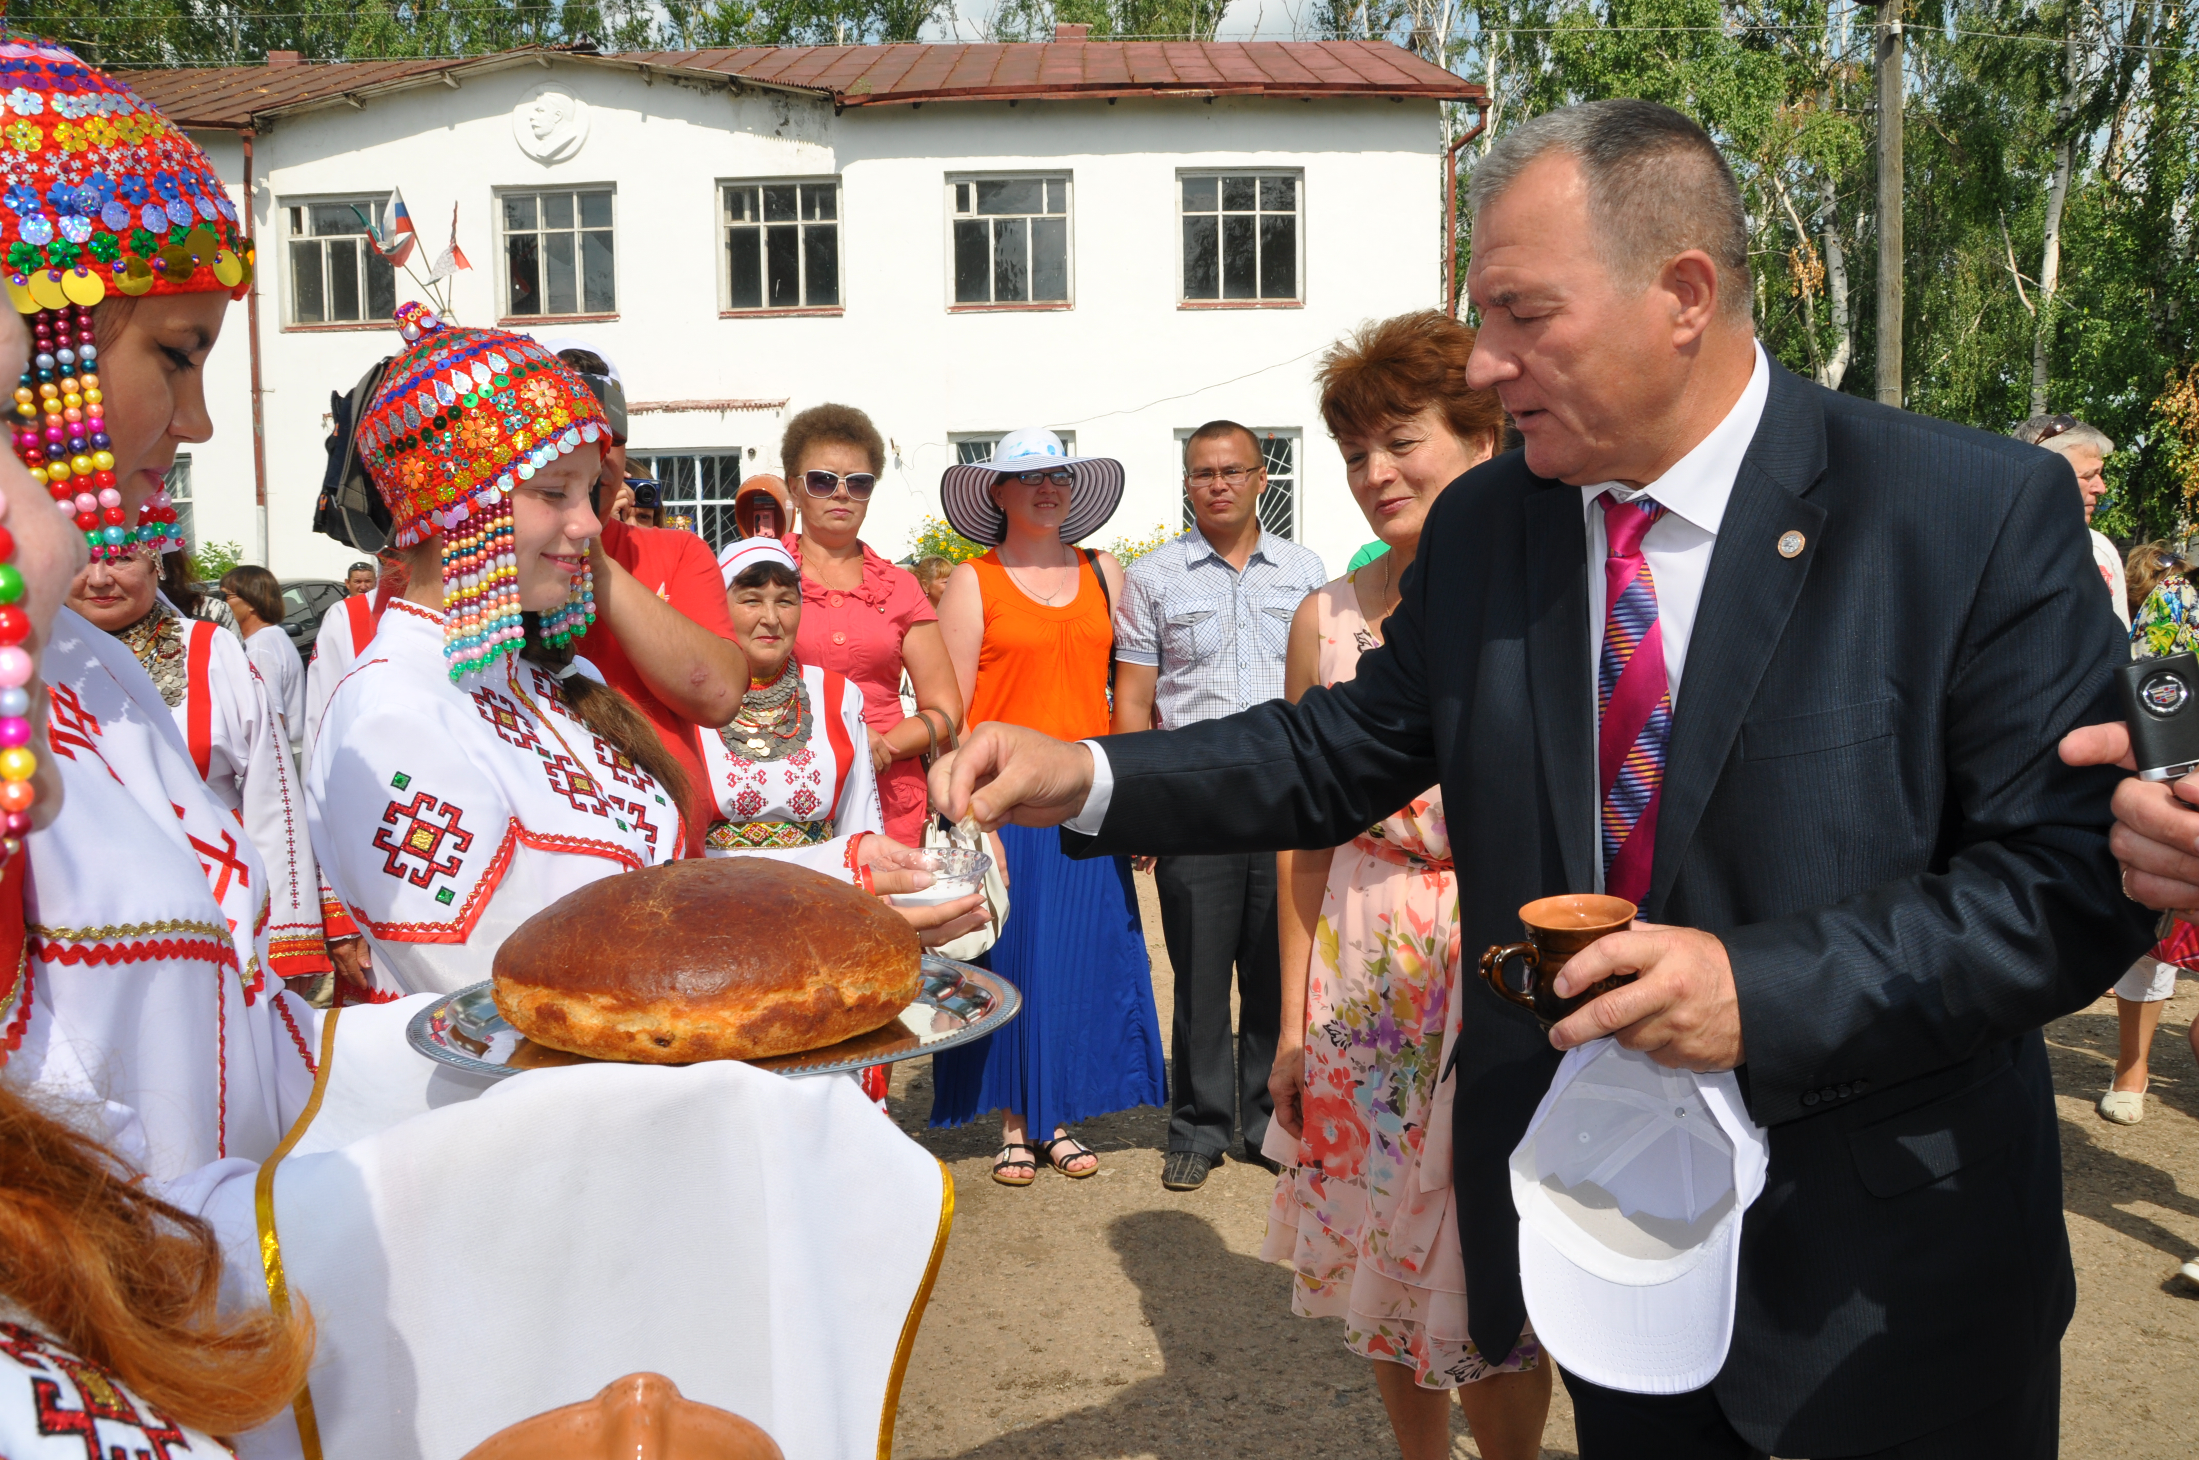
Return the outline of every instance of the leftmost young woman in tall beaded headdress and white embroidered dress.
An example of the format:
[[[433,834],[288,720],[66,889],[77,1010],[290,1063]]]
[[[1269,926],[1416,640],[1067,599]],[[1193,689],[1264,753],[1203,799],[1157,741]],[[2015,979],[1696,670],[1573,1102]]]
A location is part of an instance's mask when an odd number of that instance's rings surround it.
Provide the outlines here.
[[[211,433],[200,369],[251,244],[205,154],[70,53],[0,44],[0,281],[31,332],[7,330],[24,352],[7,365],[22,376],[13,530],[57,504],[95,552],[156,550],[176,446]],[[33,596],[59,596],[79,565]],[[0,613],[0,642],[22,631]],[[90,1099],[156,1179],[264,1159],[310,1086],[310,1009],[268,965],[268,869],[121,642],[62,607],[46,642],[22,646],[42,651],[37,754],[70,814],[26,840],[24,956],[0,967],[4,1075]],[[22,668],[0,651],[0,741]],[[0,787],[11,838],[20,800]]]

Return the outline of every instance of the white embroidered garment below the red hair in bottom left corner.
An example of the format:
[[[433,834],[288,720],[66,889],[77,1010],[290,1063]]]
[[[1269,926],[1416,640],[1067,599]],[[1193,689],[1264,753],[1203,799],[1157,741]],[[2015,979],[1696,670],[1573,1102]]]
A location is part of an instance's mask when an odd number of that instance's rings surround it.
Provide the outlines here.
[[[0,1456],[9,1460],[229,1460],[229,1447],[185,1429],[0,1304]]]

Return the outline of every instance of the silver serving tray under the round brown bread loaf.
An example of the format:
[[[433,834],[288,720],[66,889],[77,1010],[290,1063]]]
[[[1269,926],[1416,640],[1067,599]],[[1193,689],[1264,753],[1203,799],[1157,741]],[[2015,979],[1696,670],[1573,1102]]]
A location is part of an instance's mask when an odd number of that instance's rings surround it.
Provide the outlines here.
[[[596,1064],[585,1055],[545,1049],[521,1036],[497,1014],[488,989],[488,983],[473,983],[438,998],[413,1014],[405,1038],[429,1060],[490,1080],[559,1064]],[[1020,1009],[1023,994],[1001,974],[928,952],[924,954],[924,989],[891,1025],[822,1049],[748,1060],[748,1064],[794,1080],[847,1075],[873,1064],[915,1060],[981,1040],[1016,1018]]]

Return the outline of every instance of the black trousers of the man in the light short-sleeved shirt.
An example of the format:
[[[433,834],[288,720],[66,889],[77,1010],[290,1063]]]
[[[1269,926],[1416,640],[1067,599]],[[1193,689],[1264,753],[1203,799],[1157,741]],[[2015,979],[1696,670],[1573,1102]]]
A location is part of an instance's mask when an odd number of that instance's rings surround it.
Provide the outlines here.
[[[1161,934],[1176,970],[1168,1148],[1220,1159],[1238,1117],[1260,1150],[1275,1102],[1267,1073],[1282,1022],[1282,954],[1275,948],[1275,853],[1161,858]],[[1229,1029],[1236,974],[1240,1027]]]

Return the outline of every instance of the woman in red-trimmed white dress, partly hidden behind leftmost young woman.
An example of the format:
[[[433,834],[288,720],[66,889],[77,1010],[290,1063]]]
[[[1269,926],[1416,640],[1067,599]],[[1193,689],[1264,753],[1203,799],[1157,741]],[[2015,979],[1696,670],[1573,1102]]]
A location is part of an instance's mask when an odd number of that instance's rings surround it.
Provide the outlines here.
[[[145,666],[191,765],[259,849],[268,875],[268,967],[281,978],[325,974],[306,796],[281,715],[237,635],[178,613],[158,594],[156,574],[158,558],[143,541],[136,552],[95,554],[68,585],[68,607]],[[284,653],[295,655],[288,640]]]

